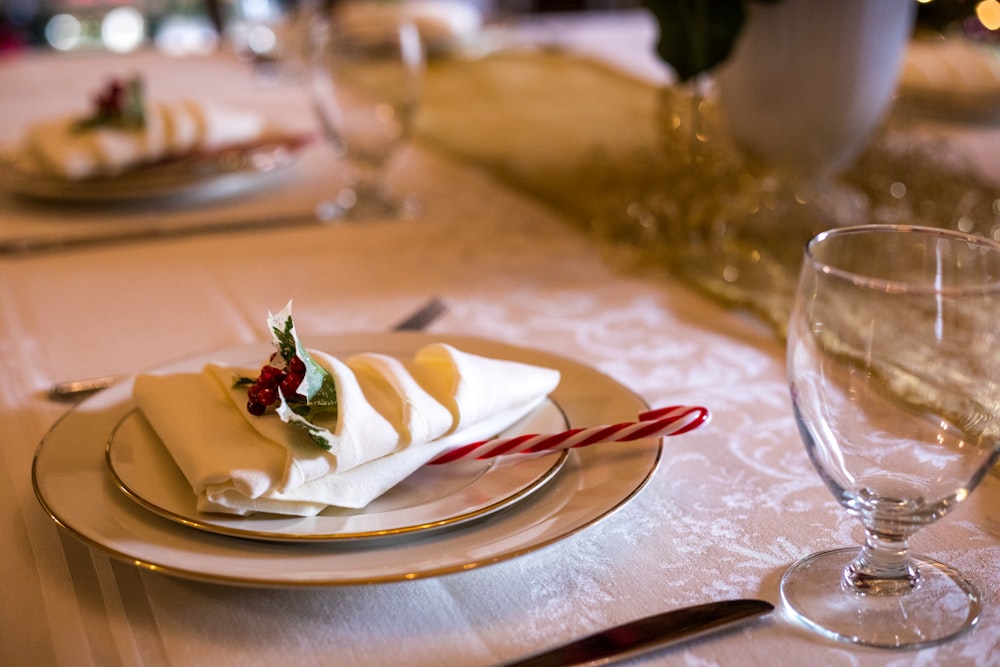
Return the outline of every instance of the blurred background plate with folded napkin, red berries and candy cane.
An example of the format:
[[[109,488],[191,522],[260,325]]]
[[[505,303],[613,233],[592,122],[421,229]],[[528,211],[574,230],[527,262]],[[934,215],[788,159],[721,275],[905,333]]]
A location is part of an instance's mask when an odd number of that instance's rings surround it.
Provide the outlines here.
[[[260,187],[312,141],[252,109],[161,99],[139,74],[94,85],[90,108],[36,122],[7,151],[7,193],[53,203],[204,202]]]

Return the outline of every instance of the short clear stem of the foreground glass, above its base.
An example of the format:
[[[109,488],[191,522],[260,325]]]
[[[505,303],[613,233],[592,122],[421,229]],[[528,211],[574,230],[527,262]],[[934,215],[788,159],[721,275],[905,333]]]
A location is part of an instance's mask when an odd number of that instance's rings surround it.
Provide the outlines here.
[[[903,595],[920,585],[920,573],[909,557],[903,535],[865,528],[865,544],[842,577],[845,590],[861,595]]]

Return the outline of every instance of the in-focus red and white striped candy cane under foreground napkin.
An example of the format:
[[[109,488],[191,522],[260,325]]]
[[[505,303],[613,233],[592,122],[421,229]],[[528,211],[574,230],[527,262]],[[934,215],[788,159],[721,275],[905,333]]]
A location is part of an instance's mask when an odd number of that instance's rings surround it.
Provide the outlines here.
[[[445,452],[431,464],[450,463],[467,459],[489,459],[501,454],[527,454],[586,447],[606,442],[626,442],[660,436],[681,435],[698,428],[711,419],[708,408],[674,405],[639,413],[639,420],[609,426],[574,428],[561,433],[527,434],[513,438],[480,440]]]

